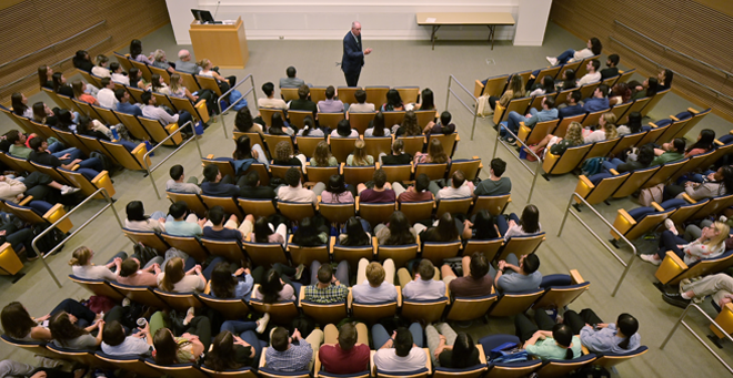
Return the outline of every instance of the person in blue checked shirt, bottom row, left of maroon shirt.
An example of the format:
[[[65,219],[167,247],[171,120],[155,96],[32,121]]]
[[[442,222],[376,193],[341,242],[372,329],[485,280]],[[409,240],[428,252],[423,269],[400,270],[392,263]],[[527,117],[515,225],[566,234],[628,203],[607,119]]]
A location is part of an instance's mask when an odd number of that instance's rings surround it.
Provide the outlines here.
[[[310,370],[315,351],[323,343],[323,331],[320,329],[313,329],[307,338],[300,335],[298,328],[293,329],[291,337],[283,327],[274,328],[271,335],[270,348],[264,353],[264,367],[275,371]]]

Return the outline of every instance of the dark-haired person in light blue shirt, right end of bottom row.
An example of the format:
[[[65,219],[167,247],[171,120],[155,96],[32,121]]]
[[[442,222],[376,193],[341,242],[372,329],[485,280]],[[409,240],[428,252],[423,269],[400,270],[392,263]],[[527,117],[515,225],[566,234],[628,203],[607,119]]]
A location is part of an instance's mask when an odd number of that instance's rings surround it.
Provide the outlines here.
[[[639,320],[629,314],[619,315],[615,324],[605,324],[590,308],[580,315],[571,309],[563,314],[563,324],[580,335],[581,344],[592,353],[625,354],[641,346]]]

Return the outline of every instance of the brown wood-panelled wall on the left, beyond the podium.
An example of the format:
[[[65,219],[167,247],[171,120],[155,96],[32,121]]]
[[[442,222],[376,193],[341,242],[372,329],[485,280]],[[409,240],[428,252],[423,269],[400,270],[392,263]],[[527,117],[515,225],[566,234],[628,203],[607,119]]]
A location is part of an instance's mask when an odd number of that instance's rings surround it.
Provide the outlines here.
[[[3,4],[4,6],[4,4]],[[100,21],[103,24],[81,33]],[[128,51],[130,40],[140,38],[170,22],[164,0],[26,0],[0,8],[0,65],[73,37],[52,49],[43,50],[18,62],[0,67],[0,88],[72,57],[77,50],[89,50],[92,57],[120,49]],[[93,49],[89,49],[97,45]],[[71,72],[71,61],[54,71]],[[38,91],[37,75],[0,89],[0,102],[8,103],[13,92]]]

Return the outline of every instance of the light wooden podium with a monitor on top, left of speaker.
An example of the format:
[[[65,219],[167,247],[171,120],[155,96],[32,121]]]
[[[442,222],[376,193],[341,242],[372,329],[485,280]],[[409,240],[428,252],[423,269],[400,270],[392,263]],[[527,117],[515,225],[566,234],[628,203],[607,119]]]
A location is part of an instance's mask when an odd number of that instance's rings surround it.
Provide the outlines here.
[[[243,69],[250,59],[241,17],[233,24],[193,21],[189,34],[197,61],[205,58],[222,69]]]

